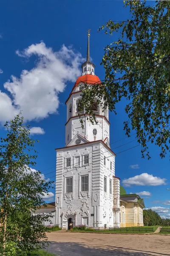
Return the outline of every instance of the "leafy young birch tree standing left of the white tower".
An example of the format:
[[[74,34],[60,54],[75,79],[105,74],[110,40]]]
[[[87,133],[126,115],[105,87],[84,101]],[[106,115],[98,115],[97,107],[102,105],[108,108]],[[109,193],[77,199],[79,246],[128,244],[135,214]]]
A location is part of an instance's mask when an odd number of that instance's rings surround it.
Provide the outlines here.
[[[35,141],[29,137],[29,126],[17,115],[4,125],[6,138],[0,138],[0,255],[27,255],[28,251],[45,247],[48,228],[43,225],[51,215],[34,215],[44,205],[44,193],[51,182],[42,180],[40,172],[32,172]],[[31,212],[30,212],[31,209]]]

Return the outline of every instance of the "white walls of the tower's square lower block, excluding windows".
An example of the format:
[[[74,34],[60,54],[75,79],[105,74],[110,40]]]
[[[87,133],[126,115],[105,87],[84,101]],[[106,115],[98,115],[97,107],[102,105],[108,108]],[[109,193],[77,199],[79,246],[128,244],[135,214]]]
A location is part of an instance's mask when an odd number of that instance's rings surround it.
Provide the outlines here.
[[[57,222],[67,229],[68,218],[74,225],[87,224],[88,227],[112,226],[113,196],[110,194],[110,180],[114,170],[104,167],[103,156],[108,156],[108,148],[101,142],[76,147],[63,148],[57,152],[56,204]],[[89,155],[89,163],[84,163],[84,155]],[[110,155],[113,153],[110,153]],[[79,157],[79,165],[75,159]],[[65,166],[67,158],[71,158],[71,166]],[[111,157],[112,163],[114,157]],[[108,160],[107,160],[108,161]],[[109,160],[110,161],[110,160]],[[88,175],[88,191],[82,192],[81,178]],[[66,192],[66,179],[72,178],[73,191]],[[107,191],[104,192],[104,177],[107,178]],[[113,189],[113,188],[112,188]],[[112,190],[113,191],[113,190]],[[108,211],[109,209],[109,211]]]

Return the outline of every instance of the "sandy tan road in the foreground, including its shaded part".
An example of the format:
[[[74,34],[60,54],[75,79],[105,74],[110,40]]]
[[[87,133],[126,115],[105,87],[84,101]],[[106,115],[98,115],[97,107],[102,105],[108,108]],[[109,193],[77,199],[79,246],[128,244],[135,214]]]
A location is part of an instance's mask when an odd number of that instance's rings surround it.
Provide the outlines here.
[[[48,239],[59,256],[170,256],[170,236],[51,232]]]

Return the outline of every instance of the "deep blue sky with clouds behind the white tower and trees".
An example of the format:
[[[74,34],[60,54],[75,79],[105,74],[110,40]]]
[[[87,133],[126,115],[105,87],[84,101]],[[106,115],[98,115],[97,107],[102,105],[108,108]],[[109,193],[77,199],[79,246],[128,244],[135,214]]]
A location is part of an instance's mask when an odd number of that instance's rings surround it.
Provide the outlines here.
[[[153,3],[147,1],[147,4]],[[91,58],[96,65],[95,73],[102,80],[105,71],[100,62],[104,47],[118,35],[109,38],[102,32],[97,33],[97,29],[109,19],[128,18],[129,10],[123,7],[123,1],[118,0],[19,0],[17,3],[1,3],[0,134],[5,136],[2,125],[16,113],[16,105],[20,105],[27,124],[35,127],[32,132],[37,134],[31,136],[40,140],[36,145],[39,154],[35,169],[42,171],[46,178],[55,179],[54,148],[65,145],[65,100],[80,75],[80,64],[86,57],[86,31],[91,29]],[[116,116],[113,113],[109,116],[110,143],[115,153],[137,145],[136,142],[123,145],[135,140],[135,135],[125,138],[123,131],[123,121],[127,119],[125,103],[117,105]],[[159,148],[150,145],[151,159],[147,160],[141,158],[140,149],[139,146],[117,154],[116,176],[121,178],[127,193],[149,192],[151,195],[141,195],[145,206],[156,207],[153,209],[162,216],[169,216],[169,154],[161,159]]]

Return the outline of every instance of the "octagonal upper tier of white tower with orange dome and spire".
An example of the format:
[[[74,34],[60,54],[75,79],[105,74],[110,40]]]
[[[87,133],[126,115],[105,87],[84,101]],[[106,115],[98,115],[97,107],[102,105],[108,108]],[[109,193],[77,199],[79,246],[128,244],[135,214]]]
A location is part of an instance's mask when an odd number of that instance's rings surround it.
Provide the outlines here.
[[[109,145],[109,126],[108,121],[108,108],[102,111],[102,107],[97,105],[97,98],[94,98],[92,110],[96,115],[97,124],[92,124],[88,119],[88,115],[79,110],[79,100],[81,99],[82,88],[84,84],[100,83],[100,79],[94,73],[95,65],[90,61],[90,34],[88,31],[88,47],[87,47],[87,60],[82,64],[82,76],[80,76],[66,100],[67,105],[67,122],[65,124],[65,146],[81,144],[87,141],[103,140],[106,145]],[[82,128],[79,116],[83,119],[84,128]],[[78,140],[74,138],[79,135]],[[84,138],[85,140],[81,139]]]

